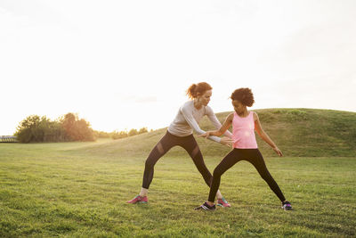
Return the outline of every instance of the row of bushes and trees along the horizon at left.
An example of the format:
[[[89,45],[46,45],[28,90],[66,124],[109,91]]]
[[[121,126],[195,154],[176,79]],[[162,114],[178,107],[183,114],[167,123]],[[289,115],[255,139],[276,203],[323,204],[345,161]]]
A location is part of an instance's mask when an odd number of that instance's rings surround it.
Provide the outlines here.
[[[45,116],[28,116],[20,122],[15,135],[20,143],[85,142],[95,141],[97,138],[121,139],[146,132],[148,132],[147,127],[142,127],[140,130],[131,129],[128,132],[95,131],[85,119],[79,119],[77,114],[69,112],[55,120],[48,119]]]

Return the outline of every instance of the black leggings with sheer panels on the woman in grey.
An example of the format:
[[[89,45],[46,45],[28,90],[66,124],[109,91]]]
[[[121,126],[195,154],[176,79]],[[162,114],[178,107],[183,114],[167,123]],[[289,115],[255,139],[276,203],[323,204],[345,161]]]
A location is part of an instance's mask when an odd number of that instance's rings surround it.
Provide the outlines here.
[[[190,157],[191,159],[193,159],[193,162],[198,168],[198,171],[204,177],[206,185],[210,186],[213,176],[206,168],[206,164],[203,160],[203,155],[200,152],[199,146],[194,136],[177,136],[172,135],[167,131],[166,135],[164,135],[162,139],[158,142],[158,144],[156,144],[156,146],[152,149],[149,157],[146,160],[145,170],[143,173],[142,187],[149,189],[150,183],[153,179],[155,164],[166,152],[168,152],[175,145],[182,146],[190,154]]]

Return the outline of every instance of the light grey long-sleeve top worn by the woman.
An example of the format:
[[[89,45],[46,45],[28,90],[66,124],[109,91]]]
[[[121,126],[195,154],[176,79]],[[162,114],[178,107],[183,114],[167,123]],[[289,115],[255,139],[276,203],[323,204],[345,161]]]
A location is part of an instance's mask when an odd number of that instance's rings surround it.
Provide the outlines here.
[[[205,131],[200,129],[198,123],[200,119],[207,116],[213,123],[216,129],[222,127],[220,121],[216,118],[214,111],[209,106],[202,106],[199,110],[194,107],[193,101],[184,103],[179,109],[174,121],[169,125],[168,132],[177,136],[186,136],[193,133],[193,130],[198,134],[204,134]],[[226,131],[224,135],[231,138],[231,132]],[[217,136],[209,136],[208,139],[220,143],[221,138]]]

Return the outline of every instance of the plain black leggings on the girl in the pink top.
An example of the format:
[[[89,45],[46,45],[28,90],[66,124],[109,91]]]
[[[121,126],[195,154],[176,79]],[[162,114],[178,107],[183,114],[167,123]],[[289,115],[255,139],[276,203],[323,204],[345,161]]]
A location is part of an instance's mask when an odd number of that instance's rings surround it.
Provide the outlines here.
[[[219,189],[220,178],[225,173],[226,170],[231,168],[234,164],[240,160],[247,160],[255,166],[258,173],[264,181],[271,187],[271,190],[276,193],[280,201],[285,201],[283,193],[279,189],[276,181],[274,181],[270,172],[268,171],[266,164],[264,163],[263,156],[258,149],[237,149],[234,148],[229,152],[225,158],[220,162],[220,164],[214,169],[213,173],[213,183],[210,187],[209,199],[208,201],[214,202],[215,194]]]

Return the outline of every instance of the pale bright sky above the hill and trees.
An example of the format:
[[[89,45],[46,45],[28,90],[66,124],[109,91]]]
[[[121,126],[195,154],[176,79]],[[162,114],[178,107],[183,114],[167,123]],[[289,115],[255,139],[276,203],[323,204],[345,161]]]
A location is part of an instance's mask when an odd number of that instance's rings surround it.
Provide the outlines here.
[[[68,112],[95,130],[167,127],[186,89],[254,109],[356,111],[354,0],[0,0],[0,135]]]

